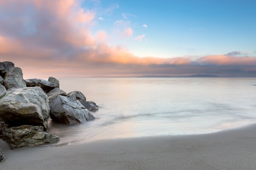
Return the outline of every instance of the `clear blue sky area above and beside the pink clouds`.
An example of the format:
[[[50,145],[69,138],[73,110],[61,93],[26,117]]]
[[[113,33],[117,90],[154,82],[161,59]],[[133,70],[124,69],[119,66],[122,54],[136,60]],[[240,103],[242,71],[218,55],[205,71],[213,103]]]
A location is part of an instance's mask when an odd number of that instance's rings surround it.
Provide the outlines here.
[[[256,52],[255,0],[87,0],[83,7],[104,18],[95,29],[104,29],[110,44],[139,57]],[[129,21],[133,36],[116,38],[116,20]],[[144,40],[134,40],[143,34]]]

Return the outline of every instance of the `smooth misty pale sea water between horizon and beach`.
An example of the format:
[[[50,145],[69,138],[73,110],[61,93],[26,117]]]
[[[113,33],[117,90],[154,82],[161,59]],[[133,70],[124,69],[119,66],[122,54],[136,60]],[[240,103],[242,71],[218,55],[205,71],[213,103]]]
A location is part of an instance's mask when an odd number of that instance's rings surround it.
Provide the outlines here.
[[[99,105],[94,121],[49,122],[58,144],[136,136],[212,133],[256,122],[255,78],[71,78]]]

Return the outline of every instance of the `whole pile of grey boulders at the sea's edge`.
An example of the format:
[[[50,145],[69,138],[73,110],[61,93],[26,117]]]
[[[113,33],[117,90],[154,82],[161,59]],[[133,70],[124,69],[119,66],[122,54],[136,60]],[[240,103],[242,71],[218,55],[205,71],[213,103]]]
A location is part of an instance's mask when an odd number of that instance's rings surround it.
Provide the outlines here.
[[[90,111],[97,107],[80,91],[61,90],[54,77],[24,80],[14,63],[0,62],[0,138],[11,149],[58,142],[58,136],[46,132],[49,117],[68,125],[86,122],[95,119]]]

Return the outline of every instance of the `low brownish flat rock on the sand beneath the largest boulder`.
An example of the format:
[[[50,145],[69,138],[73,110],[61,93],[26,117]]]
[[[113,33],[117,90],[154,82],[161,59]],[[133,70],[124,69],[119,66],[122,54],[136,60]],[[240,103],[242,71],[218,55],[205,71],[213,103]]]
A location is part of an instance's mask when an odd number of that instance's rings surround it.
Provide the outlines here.
[[[42,126],[22,125],[6,128],[3,131],[2,139],[9,144],[11,149],[23,146],[33,146],[45,143],[58,142],[58,136],[46,133]]]

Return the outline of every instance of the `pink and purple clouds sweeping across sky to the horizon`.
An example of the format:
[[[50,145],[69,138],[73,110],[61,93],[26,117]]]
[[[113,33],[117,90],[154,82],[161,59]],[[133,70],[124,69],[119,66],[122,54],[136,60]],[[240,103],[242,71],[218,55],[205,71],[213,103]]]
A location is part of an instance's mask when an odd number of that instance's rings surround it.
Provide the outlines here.
[[[127,74],[256,76],[256,57],[240,53],[197,58],[136,57],[125,48],[103,42],[108,35],[104,30],[94,30],[95,15],[81,8],[76,0],[0,0],[0,16],[4,16],[0,17],[0,61],[15,62],[23,69],[25,78]],[[118,24],[126,36],[133,35],[128,23]],[[141,36],[138,40],[145,37]]]

